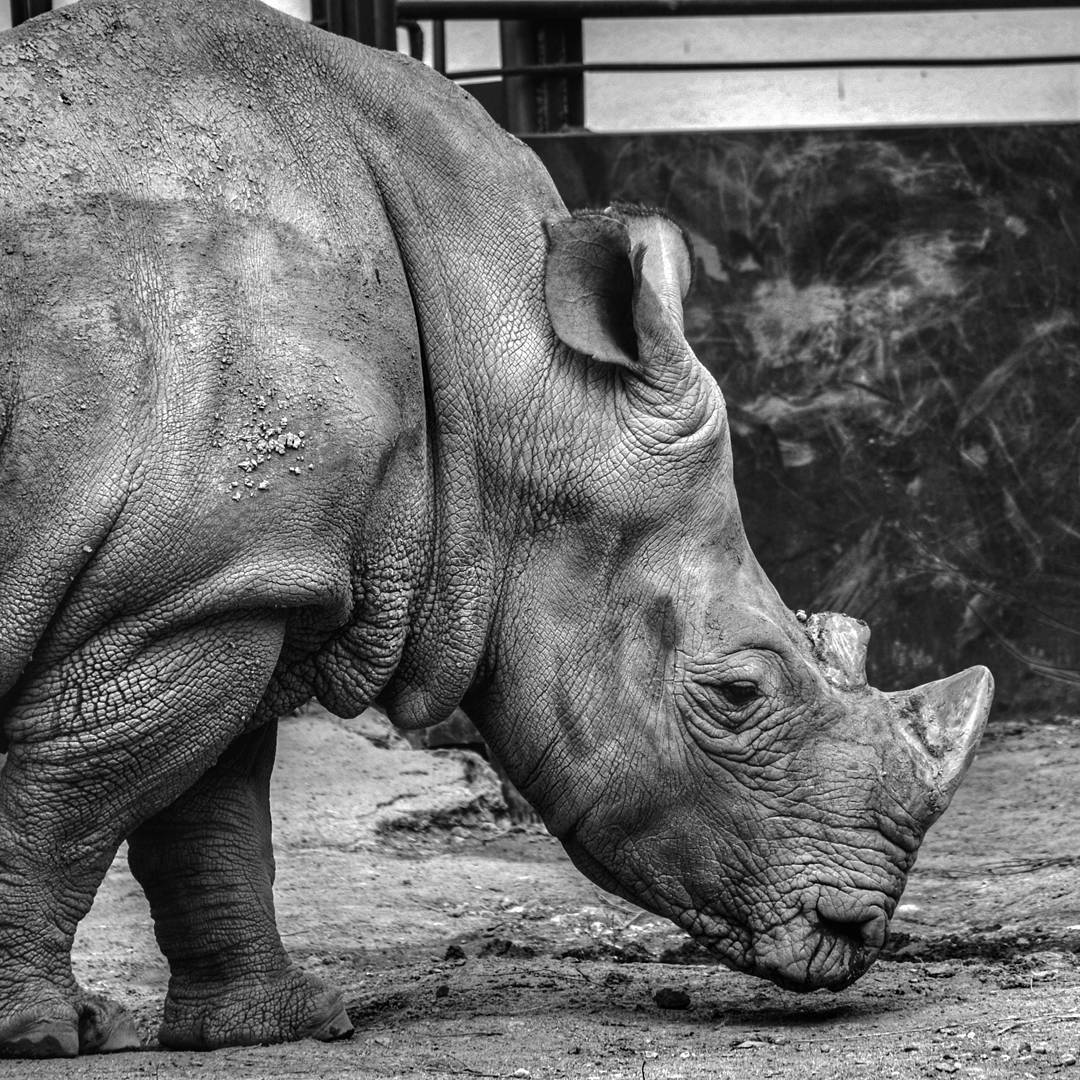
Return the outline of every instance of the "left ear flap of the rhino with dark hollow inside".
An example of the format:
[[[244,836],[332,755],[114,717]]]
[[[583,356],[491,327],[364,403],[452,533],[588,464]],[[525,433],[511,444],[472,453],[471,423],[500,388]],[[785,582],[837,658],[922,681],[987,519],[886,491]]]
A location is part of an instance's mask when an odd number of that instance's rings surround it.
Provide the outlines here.
[[[544,299],[558,339],[608,364],[637,367],[630,232],[606,214],[544,221]]]

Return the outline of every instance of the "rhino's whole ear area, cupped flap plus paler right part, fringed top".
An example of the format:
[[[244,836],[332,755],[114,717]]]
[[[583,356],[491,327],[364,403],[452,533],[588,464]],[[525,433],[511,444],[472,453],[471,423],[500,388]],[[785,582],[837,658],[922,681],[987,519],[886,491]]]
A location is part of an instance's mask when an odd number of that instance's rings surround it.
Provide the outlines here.
[[[692,262],[681,229],[661,214],[610,207],[549,219],[544,296],[571,349],[644,373],[658,346],[681,338]]]

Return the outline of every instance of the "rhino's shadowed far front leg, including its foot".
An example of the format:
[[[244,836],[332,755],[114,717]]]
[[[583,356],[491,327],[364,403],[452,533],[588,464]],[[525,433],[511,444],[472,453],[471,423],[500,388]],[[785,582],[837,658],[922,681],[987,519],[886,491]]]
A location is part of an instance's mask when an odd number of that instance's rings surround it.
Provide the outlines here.
[[[293,966],[274,922],[276,721],[239,738],[129,840],[172,977],[160,1039],[184,1050],[352,1034],[341,995]]]

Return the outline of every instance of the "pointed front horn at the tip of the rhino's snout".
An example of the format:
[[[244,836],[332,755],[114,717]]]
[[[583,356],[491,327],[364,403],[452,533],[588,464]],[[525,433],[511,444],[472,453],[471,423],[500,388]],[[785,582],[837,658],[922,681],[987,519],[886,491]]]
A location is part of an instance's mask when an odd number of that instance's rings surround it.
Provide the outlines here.
[[[899,703],[900,732],[915,752],[916,784],[929,827],[949,805],[986,726],[994,677],[982,666],[888,694]]]

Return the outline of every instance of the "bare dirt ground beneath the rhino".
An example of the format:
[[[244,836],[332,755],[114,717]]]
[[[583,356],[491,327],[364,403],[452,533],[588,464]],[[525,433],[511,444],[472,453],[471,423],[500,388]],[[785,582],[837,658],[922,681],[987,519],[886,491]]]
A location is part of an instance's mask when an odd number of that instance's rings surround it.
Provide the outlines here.
[[[354,1038],[161,1050],[166,971],[121,858],[76,970],[127,1003],[146,1051],[0,1063],[0,1078],[1080,1080],[1078,777],[1080,718],[991,727],[923,846],[888,955],[849,989],[799,996],[717,968],[591,886],[541,828],[496,820],[494,778],[469,757],[406,750],[369,717],[291,719],[279,922],[346,990]]]

